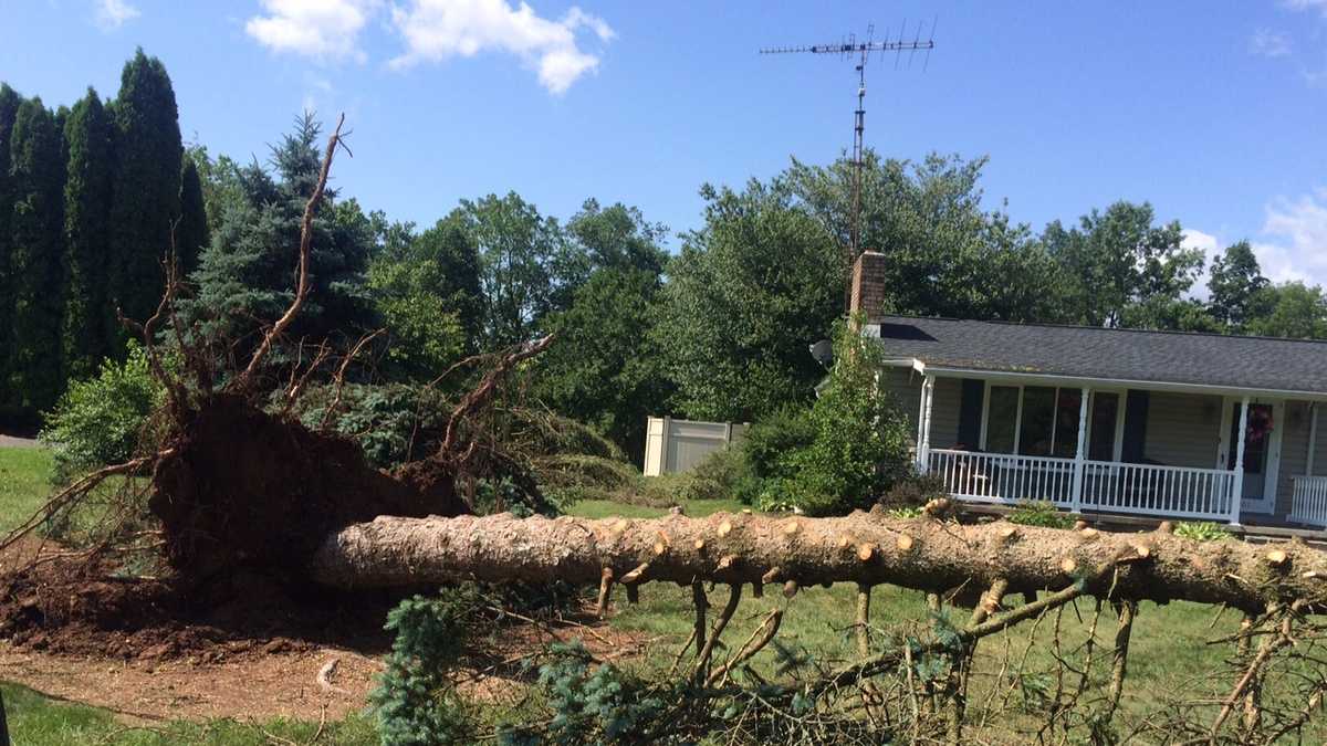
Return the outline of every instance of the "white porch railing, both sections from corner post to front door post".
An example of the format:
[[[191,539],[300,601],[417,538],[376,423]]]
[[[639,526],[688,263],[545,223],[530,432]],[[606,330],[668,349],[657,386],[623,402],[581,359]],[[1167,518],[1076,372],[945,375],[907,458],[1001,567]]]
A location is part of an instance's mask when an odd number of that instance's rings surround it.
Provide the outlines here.
[[[1084,461],[1075,499],[1078,463],[1067,458],[932,449],[929,471],[961,500],[1019,503],[1174,518],[1229,520],[1235,473]],[[1324,503],[1327,504],[1327,503]]]

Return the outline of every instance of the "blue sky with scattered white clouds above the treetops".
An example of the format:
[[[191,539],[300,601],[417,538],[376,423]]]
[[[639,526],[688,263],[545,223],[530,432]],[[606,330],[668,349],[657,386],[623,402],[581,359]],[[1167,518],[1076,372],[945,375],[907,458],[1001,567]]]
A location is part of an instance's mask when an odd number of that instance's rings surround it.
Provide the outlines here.
[[[336,178],[393,218],[515,190],[679,231],[701,183],[851,145],[852,62],[758,48],[938,17],[925,72],[869,68],[868,145],[989,155],[989,204],[1036,230],[1147,199],[1194,246],[1247,238],[1274,279],[1327,283],[1327,0],[528,1],[4,0],[0,80],[113,96],[142,45],[214,153],[261,157],[301,108],[344,110]]]

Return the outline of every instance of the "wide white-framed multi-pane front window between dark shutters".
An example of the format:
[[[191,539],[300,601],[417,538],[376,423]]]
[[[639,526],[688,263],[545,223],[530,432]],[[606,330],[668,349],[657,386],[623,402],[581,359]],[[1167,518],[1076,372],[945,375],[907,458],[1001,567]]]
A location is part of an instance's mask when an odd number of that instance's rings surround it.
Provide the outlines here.
[[[985,450],[1056,458],[1078,454],[1080,388],[990,385],[986,401]],[[1113,461],[1120,396],[1101,392],[1089,404],[1088,451]]]

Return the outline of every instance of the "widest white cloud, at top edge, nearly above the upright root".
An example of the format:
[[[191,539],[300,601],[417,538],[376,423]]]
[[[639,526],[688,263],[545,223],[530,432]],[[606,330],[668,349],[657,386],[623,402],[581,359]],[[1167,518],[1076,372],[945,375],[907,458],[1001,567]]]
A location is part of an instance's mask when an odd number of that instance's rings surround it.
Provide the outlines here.
[[[393,7],[391,21],[406,42],[405,53],[391,60],[393,68],[506,52],[535,70],[555,94],[598,68],[598,57],[577,44],[580,29],[600,41],[614,36],[602,19],[577,7],[553,21],[525,3],[514,8],[507,0],[410,0],[406,8]]]

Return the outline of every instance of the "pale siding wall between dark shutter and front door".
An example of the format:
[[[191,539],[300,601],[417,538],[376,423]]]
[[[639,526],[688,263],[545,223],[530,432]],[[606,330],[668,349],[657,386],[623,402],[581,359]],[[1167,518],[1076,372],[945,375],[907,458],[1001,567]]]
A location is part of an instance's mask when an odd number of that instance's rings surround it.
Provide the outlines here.
[[[1168,466],[1212,469],[1221,445],[1221,397],[1152,392],[1143,455]]]

